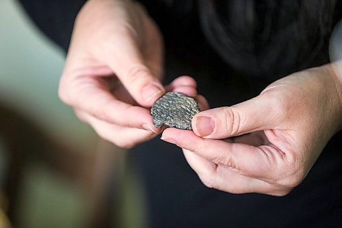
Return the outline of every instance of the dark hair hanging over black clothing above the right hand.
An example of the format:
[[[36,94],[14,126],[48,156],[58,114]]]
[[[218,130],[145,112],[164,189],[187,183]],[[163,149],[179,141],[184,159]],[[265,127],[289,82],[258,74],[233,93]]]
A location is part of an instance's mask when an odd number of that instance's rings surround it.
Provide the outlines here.
[[[244,73],[272,77],[328,61],[335,3],[198,1],[202,29],[222,58]]]

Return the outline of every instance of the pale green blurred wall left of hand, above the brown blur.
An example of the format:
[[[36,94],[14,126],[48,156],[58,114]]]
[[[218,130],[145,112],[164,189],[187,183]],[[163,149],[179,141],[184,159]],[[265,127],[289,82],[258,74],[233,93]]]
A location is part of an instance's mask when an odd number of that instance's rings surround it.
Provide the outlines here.
[[[14,0],[0,0],[0,103],[25,114],[47,134],[84,147],[94,132],[57,97],[64,53]]]

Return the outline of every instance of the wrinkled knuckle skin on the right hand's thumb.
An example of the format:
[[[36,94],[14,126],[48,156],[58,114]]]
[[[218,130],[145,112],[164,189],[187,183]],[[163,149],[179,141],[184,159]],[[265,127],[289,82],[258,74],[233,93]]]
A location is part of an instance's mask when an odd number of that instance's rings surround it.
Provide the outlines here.
[[[223,110],[226,130],[231,136],[239,134],[241,127],[241,116],[237,107],[226,107]]]

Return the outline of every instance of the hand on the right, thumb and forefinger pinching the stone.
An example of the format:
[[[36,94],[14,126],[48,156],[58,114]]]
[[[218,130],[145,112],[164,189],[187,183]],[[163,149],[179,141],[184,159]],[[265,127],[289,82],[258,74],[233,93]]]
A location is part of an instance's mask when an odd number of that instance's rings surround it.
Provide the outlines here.
[[[282,196],[306,177],[341,129],[342,86],[329,65],[294,73],[258,97],[196,114],[194,131],[166,129],[202,182],[232,193]],[[263,131],[254,145],[224,138]],[[246,136],[251,137],[251,136]],[[258,145],[259,144],[259,145]]]

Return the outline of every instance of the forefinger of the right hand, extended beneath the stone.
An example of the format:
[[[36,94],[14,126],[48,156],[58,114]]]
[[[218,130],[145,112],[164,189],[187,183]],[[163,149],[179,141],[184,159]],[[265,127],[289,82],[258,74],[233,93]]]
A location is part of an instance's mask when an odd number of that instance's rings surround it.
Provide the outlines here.
[[[247,144],[229,143],[223,140],[203,139],[192,131],[168,128],[161,139],[176,144],[205,159],[235,170],[248,177],[267,179],[273,177],[282,153],[273,147],[252,147]]]

